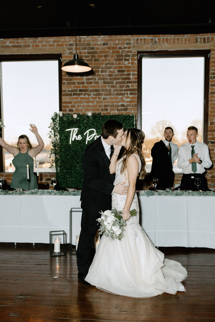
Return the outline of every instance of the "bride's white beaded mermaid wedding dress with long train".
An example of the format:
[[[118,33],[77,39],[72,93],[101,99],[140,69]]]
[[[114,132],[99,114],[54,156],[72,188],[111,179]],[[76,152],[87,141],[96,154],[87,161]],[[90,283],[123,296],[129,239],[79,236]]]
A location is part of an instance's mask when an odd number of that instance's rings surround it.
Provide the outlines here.
[[[141,161],[136,157],[140,171]],[[120,173],[120,161],[114,185],[125,180]],[[126,195],[113,193],[112,208],[122,210],[125,200]],[[85,280],[106,292],[137,298],[185,291],[180,282],[187,277],[186,269],[179,262],[164,259],[164,254],[153,246],[140,226],[136,193],[132,209],[137,210],[137,215],[126,221],[121,241],[102,236]]]

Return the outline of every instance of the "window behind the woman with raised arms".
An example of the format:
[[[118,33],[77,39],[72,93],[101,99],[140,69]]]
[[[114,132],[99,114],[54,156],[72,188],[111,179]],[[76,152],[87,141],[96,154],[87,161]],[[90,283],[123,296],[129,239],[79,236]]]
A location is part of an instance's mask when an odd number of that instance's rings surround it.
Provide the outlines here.
[[[59,55],[58,55],[59,56]],[[59,84],[60,57],[37,57],[37,59],[1,60],[1,113],[4,120],[4,140],[16,146],[18,137],[25,134],[32,146],[36,146],[35,135],[30,131],[30,123],[38,128],[44,141],[44,148],[36,157],[39,171],[50,171],[50,139],[48,126],[51,116],[59,111],[61,95]],[[40,58],[40,59],[39,59]],[[19,58],[18,58],[19,59]],[[61,66],[60,66],[61,67]],[[6,172],[15,170],[13,155],[6,150],[3,157],[3,169]],[[1,171],[3,171],[1,169]]]

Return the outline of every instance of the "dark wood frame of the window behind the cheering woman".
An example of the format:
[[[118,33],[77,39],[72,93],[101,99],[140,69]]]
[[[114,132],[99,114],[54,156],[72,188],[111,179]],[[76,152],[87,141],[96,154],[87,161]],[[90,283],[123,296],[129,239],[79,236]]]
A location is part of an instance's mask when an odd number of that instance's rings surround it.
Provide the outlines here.
[[[0,62],[10,61],[32,61],[32,60],[58,60],[58,77],[59,77],[59,110],[62,111],[62,54],[8,54],[0,55]],[[0,118],[1,118],[1,88],[0,88]],[[0,133],[2,137],[2,133]],[[3,172],[3,149],[0,147],[0,172]]]

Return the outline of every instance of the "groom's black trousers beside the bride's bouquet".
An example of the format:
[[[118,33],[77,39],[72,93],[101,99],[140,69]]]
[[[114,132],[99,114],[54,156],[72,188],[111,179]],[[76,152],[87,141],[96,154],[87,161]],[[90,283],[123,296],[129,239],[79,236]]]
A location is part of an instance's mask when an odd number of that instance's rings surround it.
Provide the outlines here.
[[[78,271],[87,274],[91,265],[91,251],[92,244],[98,230],[98,222],[96,221],[99,216],[93,216],[92,213],[82,211],[81,219],[81,232],[77,247],[77,264]]]

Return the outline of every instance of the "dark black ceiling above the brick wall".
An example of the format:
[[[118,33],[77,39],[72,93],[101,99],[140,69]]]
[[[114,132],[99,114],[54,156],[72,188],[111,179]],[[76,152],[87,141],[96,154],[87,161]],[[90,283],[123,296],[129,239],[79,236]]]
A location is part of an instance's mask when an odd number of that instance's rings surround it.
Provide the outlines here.
[[[214,33],[214,5],[214,0],[2,0],[0,38],[74,36],[75,21],[76,34],[86,36]]]

